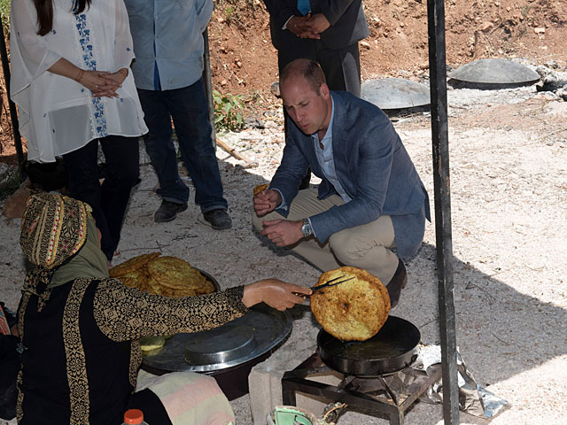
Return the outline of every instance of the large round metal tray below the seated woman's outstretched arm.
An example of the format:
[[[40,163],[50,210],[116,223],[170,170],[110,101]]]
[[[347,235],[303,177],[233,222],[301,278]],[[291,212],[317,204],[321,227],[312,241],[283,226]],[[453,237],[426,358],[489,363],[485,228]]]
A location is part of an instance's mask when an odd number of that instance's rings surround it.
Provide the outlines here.
[[[163,347],[144,352],[143,365],[163,372],[210,372],[239,366],[274,349],[290,334],[291,326],[290,313],[263,303],[254,305],[244,316],[219,328],[172,336]],[[253,336],[252,341],[247,336]],[[198,364],[185,360],[188,352],[197,353],[190,361]]]

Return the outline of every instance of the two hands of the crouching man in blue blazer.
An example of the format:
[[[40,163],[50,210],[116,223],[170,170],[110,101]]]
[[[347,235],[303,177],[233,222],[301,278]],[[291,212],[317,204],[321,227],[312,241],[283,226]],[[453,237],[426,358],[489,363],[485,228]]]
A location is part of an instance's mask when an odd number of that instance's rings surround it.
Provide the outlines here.
[[[254,211],[259,217],[274,211],[277,205],[282,203],[280,192],[273,189],[264,189],[254,196]],[[260,232],[267,236],[277,246],[288,246],[296,243],[303,237],[301,233],[302,221],[291,220],[269,220],[262,221],[264,228]]]

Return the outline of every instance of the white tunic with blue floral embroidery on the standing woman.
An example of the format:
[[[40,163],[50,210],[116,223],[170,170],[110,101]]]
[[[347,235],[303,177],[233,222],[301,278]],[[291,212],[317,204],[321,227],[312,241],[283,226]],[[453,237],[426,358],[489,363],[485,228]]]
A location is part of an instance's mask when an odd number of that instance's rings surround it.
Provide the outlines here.
[[[10,94],[19,107],[19,130],[27,139],[27,159],[53,162],[106,135],[147,133],[134,77],[119,97],[92,97],[77,81],[50,73],[66,58],[85,70],[116,72],[134,58],[123,0],[93,0],[79,15],[73,0],[53,0],[53,30],[37,35],[31,0],[12,0]]]

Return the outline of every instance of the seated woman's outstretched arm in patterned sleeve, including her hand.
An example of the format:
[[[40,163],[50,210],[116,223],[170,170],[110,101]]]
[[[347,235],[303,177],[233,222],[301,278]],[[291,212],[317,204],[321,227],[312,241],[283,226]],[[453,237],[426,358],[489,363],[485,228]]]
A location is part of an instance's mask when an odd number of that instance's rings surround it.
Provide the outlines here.
[[[115,279],[98,284],[94,315],[98,328],[113,341],[140,336],[198,332],[217,328],[242,316],[262,301],[285,310],[311,290],[276,279],[255,282],[197,297],[167,298],[128,288]]]

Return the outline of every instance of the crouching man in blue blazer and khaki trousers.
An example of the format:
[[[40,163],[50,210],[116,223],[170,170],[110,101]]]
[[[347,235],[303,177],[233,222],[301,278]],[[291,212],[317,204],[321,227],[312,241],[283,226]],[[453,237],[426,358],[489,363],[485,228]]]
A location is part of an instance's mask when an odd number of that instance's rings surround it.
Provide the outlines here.
[[[374,104],[330,92],[311,60],[285,66],[280,90],[293,122],[282,163],[253,199],[255,228],[323,271],[368,270],[397,305],[407,282],[399,257],[416,253],[431,220],[429,197],[400,136]],[[299,190],[308,166],[322,182]]]

